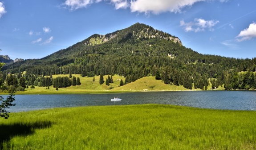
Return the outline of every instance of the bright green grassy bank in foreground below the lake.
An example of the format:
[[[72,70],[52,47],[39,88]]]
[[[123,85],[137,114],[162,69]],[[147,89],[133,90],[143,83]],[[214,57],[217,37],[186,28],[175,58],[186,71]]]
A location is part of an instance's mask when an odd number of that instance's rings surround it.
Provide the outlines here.
[[[256,149],[256,112],[126,105],[54,108],[0,119],[3,149]]]

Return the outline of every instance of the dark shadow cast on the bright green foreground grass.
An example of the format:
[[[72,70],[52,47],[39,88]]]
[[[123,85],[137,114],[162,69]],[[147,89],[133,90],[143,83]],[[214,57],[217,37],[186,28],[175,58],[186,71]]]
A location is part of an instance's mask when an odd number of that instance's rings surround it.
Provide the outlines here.
[[[9,141],[15,136],[27,136],[33,135],[35,129],[44,129],[51,127],[50,121],[37,121],[33,123],[13,123],[13,124],[0,124],[0,150],[3,148],[9,149]],[[3,146],[3,143],[7,142],[7,146]]]

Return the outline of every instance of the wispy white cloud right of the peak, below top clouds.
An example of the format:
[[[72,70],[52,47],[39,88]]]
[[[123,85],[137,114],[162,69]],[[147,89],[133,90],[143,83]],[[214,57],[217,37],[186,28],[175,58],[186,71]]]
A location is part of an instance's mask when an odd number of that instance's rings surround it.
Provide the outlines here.
[[[209,31],[214,31],[213,27],[219,23],[218,20],[205,20],[205,19],[197,19],[195,18],[193,22],[188,22],[186,23],[184,20],[181,20],[179,22],[181,27],[184,27],[184,30],[186,32],[189,31],[194,31],[194,32],[199,32],[199,31],[205,31],[205,29],[208,29]]]

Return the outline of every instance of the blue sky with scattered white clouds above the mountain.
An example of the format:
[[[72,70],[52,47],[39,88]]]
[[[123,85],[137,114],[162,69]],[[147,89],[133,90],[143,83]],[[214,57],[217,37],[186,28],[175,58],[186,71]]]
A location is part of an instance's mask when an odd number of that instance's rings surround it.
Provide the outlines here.
[[[43,58],[145,23],[201,54],[256,57],[256,0],[0,0],[0,51]]]

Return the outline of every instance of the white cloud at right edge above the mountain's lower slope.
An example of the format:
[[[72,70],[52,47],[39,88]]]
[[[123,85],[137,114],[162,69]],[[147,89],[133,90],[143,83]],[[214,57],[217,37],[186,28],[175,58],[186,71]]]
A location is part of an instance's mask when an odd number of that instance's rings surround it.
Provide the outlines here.
[[[256,23],[251,23],[247,29],[244,29],[236,36],[238,42],[256,38]]]

